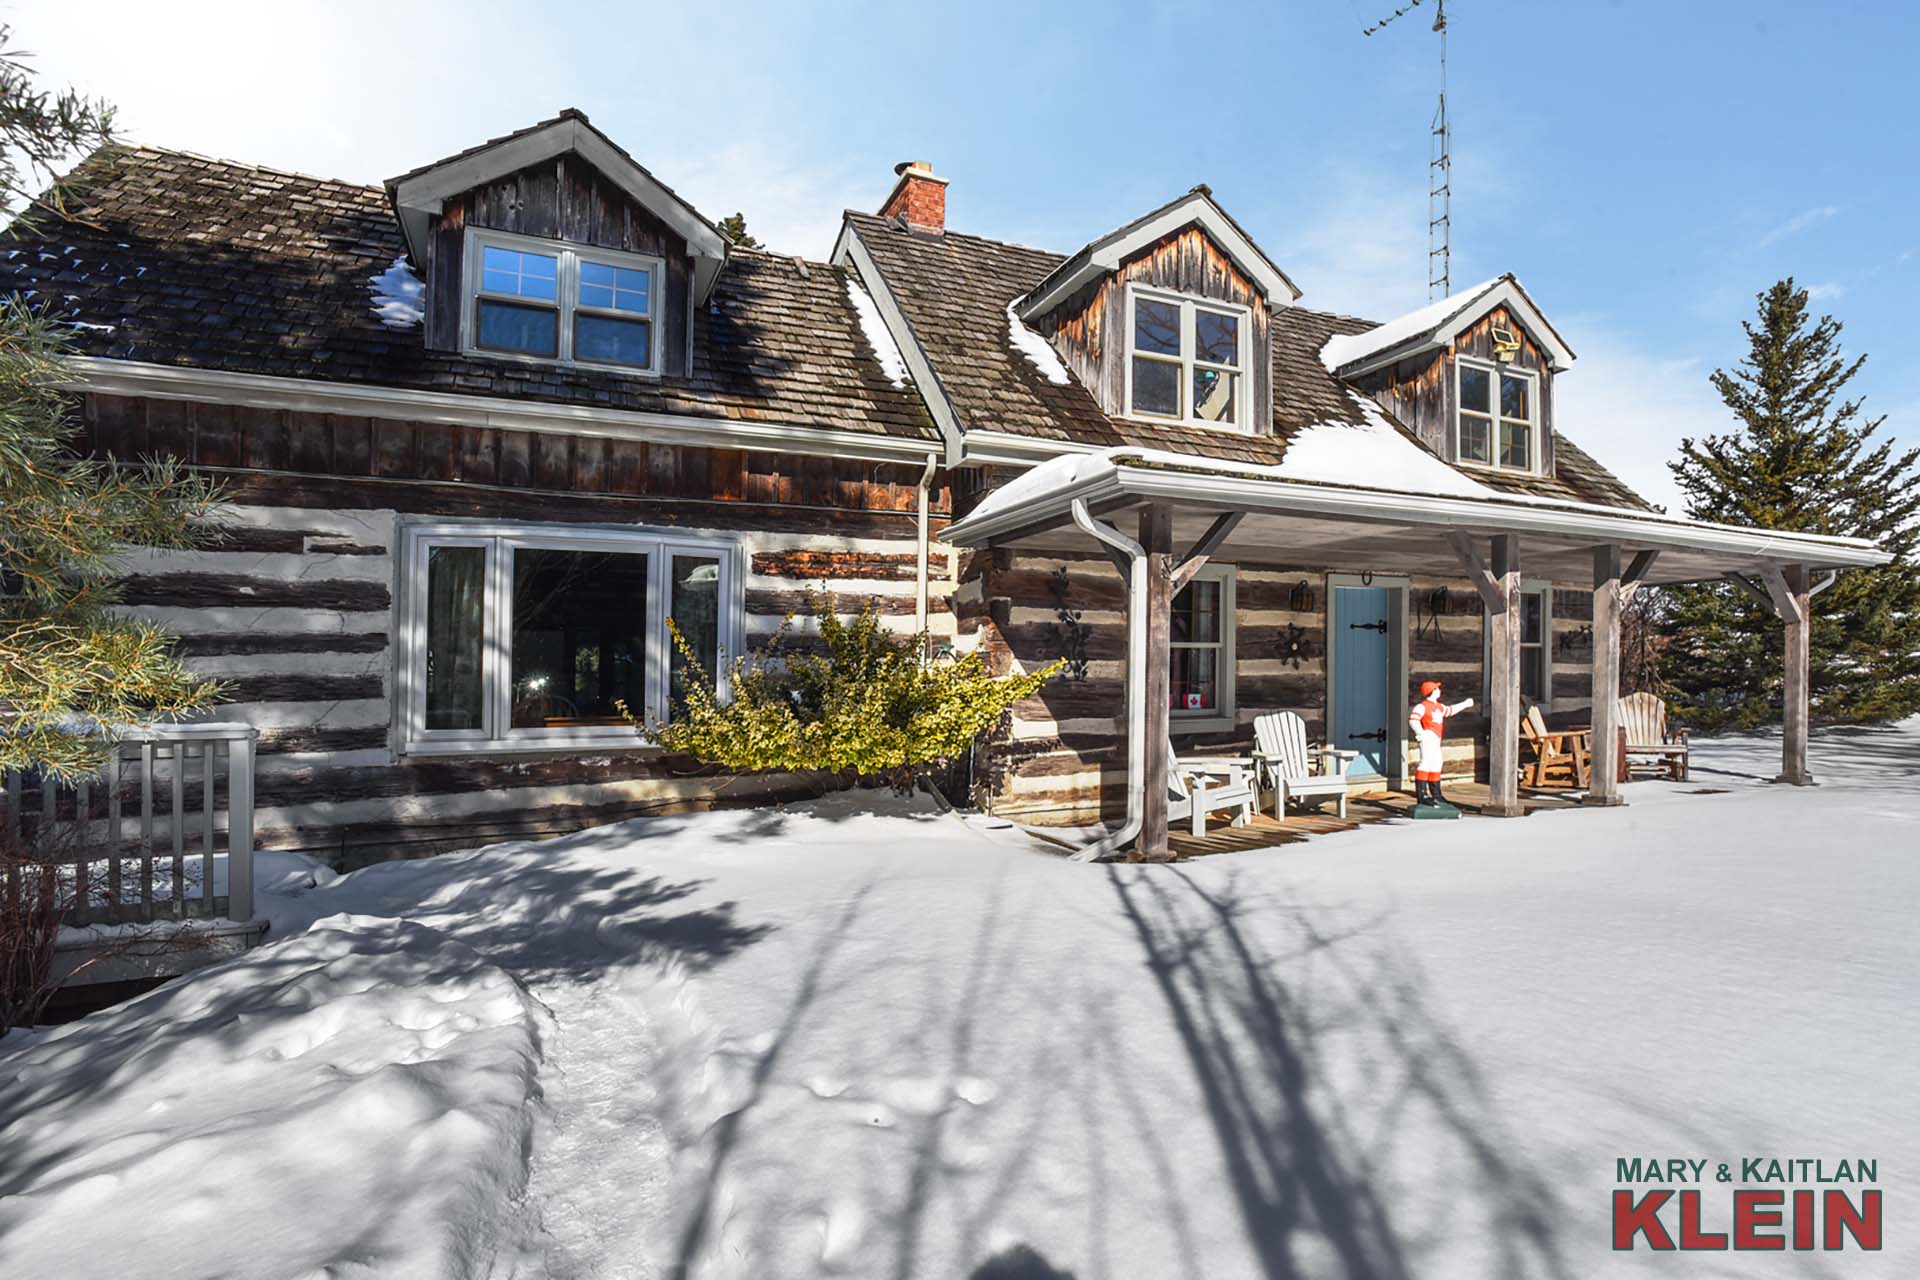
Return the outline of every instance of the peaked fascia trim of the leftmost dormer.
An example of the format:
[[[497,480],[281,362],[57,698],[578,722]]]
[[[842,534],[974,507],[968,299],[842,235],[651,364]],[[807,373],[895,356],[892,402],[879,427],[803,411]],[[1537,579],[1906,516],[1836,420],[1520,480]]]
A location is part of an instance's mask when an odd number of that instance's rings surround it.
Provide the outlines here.
[[[605,173],[620,190],[687,242],[687,249],[693,253],[693,294],[699,301],[707,301],[712,282],[720,276],[720,265],[726,263],[726,238],[693,205],[660,186],[632,157],[622,155],[607,138],[576,119],[555,121],[545,129],[428,169],[394,186],[394,207],[399,211],[415,263],[422,267],[426,263],[428,215],[440,213],[447,196],[470,192],[482,182],[518,173],[566,152],[578,154]]]

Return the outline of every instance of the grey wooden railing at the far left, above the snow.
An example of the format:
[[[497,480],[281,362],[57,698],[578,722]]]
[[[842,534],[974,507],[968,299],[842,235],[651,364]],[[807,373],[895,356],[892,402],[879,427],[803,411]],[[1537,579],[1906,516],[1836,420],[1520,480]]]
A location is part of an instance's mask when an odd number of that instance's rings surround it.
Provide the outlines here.
[[[255,737],[244,723],[125,729],[96,777],[10,771],[0,818],[10,848],[56,867],[65,923],[246,921]],[[13,902],[35,892],[12,860],[6,879]]]

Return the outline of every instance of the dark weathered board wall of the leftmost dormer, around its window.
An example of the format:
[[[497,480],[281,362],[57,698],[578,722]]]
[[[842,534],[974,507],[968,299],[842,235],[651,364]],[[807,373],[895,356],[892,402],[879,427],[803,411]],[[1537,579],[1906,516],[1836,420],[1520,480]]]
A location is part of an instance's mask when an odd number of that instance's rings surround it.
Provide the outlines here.
[[[693,265],[687,242],[578,155],[559,155],[445,201],[428,257],[426,345],[459,351],[467,228],[651,253],[666,263],[660,296],[660,368],[691,372]]]

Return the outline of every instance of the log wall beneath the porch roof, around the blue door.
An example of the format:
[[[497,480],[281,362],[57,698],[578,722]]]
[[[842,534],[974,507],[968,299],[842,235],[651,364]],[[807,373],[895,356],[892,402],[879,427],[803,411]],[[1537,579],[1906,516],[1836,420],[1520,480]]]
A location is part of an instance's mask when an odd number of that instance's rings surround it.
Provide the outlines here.
[[[1221,557],[1219,562],[1233,562]],[[1361,566],[1292,566],[1235,562],[1235,727],[1179,733],[1181,752],[1246,752],[1256,716],[1292,710],[1308,737],[1327,733],[1327,595],[1329,572]],[[1306,580],[1311,610],[1292,608]],[[1066,658],[1069,670],[1014,708],[975,771],[981,802],[995,814],[1037,825],[1081,825],[1125,812],[1125,589],[1108,560],[1079,560],[1010,551],[962,553],[954,597],[956,628],[977,641],[995,674],[1031,672]],[[1434,591],[1448,604],[1434,610]],[[1555,725],[1590,723],[1592,643],[1580,628],[1592,620],[1586,589],[1553,591],[1551,700]],[[1486,629],[1478,595],[1461,578],[1407,580],[1407,700],[1423,679],[1442,679],[1450,700],[1484,706]],[[1292,628],[1298,628],[1294,631]],[[1292,652],[1306,637],[1306,652]],[[1486,764],[1482,708],[1465,712],[1446,739],[1446,770],[1473,777]]]

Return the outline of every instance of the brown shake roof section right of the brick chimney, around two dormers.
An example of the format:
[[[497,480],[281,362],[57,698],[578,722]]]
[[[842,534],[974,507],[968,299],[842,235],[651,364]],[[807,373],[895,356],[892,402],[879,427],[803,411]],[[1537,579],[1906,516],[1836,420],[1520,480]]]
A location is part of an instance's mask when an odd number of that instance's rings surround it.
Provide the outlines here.
[[[995,430],[1037,439],[1096,447],[1139,445],[1236,462],[1277,464],[1288,439],[1315,422],[1361,420],[1361,395],[1321,363],[1334,334],[1377,328],[1308,307],[1275,307],[1273,436],[1242,436],[1202,426],[1173,426],[1110,418],[1077,380],[1050,382],[1014,349],[1008,303],[1031,292],[1068,259],[1027,246],[985,240],[954,230],[916,232],[897,219],[847,211],[933,367],[941,388],[970,430]],[[1384,411],[1382,411],[1384,413]],[[1386,415],[1392,420],[1392,415]],[[1400,426],[1396,422],[1396,426]],[[1402,426],[1405,432],[1405,428]],[[1417,439],[1413,432],[1405,432]],[[1421,445],[1427,447],[1425,443]],[[1561,432],[1553,434],[1555,476],[1519,476],[1475,468],[1480,484],[1509,493],[1532,493],[1607,507],[1645,509],[1647,503]]]

